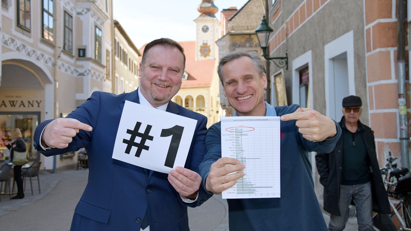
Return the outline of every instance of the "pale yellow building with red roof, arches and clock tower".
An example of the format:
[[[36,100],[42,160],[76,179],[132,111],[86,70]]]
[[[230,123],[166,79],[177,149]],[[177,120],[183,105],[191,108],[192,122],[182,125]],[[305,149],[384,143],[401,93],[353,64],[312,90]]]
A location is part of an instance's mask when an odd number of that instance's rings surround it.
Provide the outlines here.
[[[217,74],[219,21],[214,0],[202,0],[196,23],[196,41],[179,42],[186,56],[185,72],[180,90],[172,101],[207,117],[207,127],[218,122],[220,107]]]

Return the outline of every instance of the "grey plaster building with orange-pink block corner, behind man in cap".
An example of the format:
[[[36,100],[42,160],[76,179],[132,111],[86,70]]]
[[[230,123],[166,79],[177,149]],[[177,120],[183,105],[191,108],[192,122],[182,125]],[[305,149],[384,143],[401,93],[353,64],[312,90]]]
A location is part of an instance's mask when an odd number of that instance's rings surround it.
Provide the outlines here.
[[[270,0],[268,3],[268,22],[274,30],[270,35],[269,55],[280,57],[287,53],[289,59],[288,69],[271,66],[271,89],[277,90],[272,94],[277,95],[273,104],[279,102],[279,96],[288,99],[286,104],[312,108],[338,122],[342,118],[342,99],[357,95],[363,101],[360,121],[375,132],[380,166],[386,164],[389,152],[398,157],[402,166],[405,162],[401,158],[400,132],[410,123],[410,93],[407,80],[404,113],[408,118],[407,124],[400,127],[399,115],[403,110],[399,110],[398,104],[397,1]],[[405,49],[408,67],[408,46]],[[277,79],[285,86],[276,86]],[[314,155],[310,156],[312,174],[316,193],[322,199]]]

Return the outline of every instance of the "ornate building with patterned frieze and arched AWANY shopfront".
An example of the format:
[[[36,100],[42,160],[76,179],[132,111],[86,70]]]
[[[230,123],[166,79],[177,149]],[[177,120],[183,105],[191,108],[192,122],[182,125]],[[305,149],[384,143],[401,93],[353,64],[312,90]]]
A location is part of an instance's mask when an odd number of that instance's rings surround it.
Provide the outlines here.
[[[20,128],[30,161],[41,168],[77,164],[74,152],[44,157],[34,150],[39,122],[64,117],[100,90],[113,91],[111,0],[2,0],[1,139]]]

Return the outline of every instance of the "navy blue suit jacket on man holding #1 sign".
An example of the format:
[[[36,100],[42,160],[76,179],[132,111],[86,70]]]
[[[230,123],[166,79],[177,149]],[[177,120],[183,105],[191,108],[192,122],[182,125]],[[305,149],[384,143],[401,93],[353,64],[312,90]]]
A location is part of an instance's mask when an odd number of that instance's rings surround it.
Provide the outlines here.
[[[93,130],[80,130],[64,149],[44,151],[39,146],[40,134],[51,120],[42,122],[36,128],[35,148],[46,156],[83,147],[87,149],[88,183],[76,206],[71,230],[139,231],[146,209],[151,231],[189,230],[187,206],[201,205],[210,198],[210,194],[200,187],[198,200],[187,204],[168,182],[166,173],[111,158],[126,100],[139,103],[137,90],[121,95],[93,92],[86,102],[66,117],[88,124]],[[197,120],[185,168],[199,172],[198,166],[205,154],[207,118],[173,102],[169,103],[166,111]]]

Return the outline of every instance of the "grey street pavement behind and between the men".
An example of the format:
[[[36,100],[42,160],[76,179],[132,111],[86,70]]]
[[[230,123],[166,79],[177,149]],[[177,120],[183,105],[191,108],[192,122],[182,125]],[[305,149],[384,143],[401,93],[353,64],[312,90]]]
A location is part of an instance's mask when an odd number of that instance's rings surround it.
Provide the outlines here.
[[[87,178],[88,169],[39,174],[41,194],[37,178],[32,179],[33,195],[30,181],[26,179],[24,199],[9,200],[9,195],[3,193],[0,202],[2,230],[69,230]],[[188,215],[191,231],[229,231],[228,205],[221,195],[212,196],[197,208],[188,208]],[[328,224],[329,215],[324,214],[324,219]],[[350,217],[344,230],[358,230],[356,217]]]

